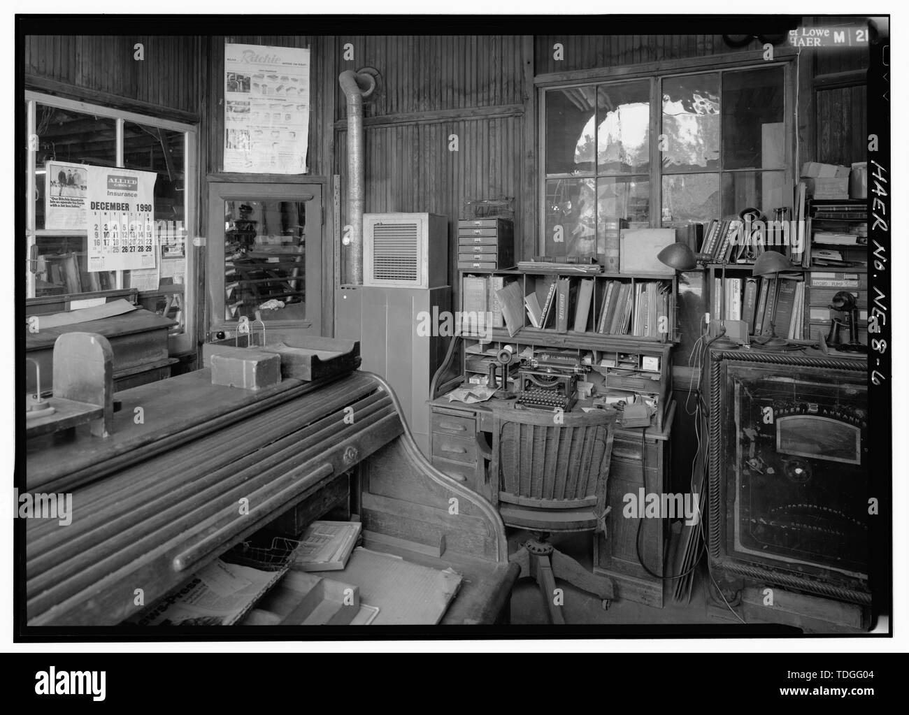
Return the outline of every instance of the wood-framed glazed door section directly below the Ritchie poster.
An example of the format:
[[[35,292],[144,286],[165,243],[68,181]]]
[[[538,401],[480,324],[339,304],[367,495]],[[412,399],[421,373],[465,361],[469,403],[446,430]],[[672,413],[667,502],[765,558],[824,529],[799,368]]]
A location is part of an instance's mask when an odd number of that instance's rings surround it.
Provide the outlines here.
[[[244,317],[269,340],[321,335],[322,185],[212,183],[208,212],[209,340]]]

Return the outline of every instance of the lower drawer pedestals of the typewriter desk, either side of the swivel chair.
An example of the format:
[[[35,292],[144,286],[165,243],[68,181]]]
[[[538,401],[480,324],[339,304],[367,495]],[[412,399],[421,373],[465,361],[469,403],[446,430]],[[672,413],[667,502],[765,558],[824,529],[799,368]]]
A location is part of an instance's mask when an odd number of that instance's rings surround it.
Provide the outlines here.
[[[480,457],[477,435],[492,444],[492,411],[485,403],[448,402],[443,397],[430,402],[432,412],[430,441],[433,466],[464,482],[465,486],[495,502],[494,484],[486,480],[487,462]],[[610,511],[606,531],[594,539],[594,573],[609,576],[615,582],[616,599],[627,599],[657,608],[663,607],[663,581],[647,573],[637,556],[635,541],[638,522],[641,559],[656,574],[664,572],[664,551],[668,524],[664,519],[626,518],[623,514],[625,495],[662,494],[669,484],[671,462],[669,435],[675,412],[672,402],[666,412],[664,429],[656,431],[618,429],[613,442],[609,469]]]

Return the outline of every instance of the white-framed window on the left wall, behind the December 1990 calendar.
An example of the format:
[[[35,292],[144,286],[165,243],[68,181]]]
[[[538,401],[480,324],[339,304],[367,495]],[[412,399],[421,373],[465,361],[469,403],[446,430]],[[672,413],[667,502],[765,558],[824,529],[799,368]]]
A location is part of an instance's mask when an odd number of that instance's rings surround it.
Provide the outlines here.
[[[26,295],[78,295],[136,288],[139,303],[175,320],[172,352],[192,348],[192,253],[186,249],[195,221],[195,128],[59,97],[25,93],[29,153],[26,215],[31,253]],[[65,204],[85,194],[82,165],[122,166],[157,174],[154,269],[89,271],[88,234],[72,216],[45,215],[48,192]],[[187,191],[187,187],[189,190]]]

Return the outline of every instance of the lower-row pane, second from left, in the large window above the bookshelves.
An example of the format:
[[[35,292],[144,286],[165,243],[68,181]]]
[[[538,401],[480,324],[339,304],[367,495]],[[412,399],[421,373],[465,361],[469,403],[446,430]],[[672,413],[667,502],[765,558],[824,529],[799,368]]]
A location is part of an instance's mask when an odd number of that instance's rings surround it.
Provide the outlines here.
[[[619,232],[650,225],[650,180],[646,176],[599,179],[596,183],[596,253],[607,273],[619,270]]]

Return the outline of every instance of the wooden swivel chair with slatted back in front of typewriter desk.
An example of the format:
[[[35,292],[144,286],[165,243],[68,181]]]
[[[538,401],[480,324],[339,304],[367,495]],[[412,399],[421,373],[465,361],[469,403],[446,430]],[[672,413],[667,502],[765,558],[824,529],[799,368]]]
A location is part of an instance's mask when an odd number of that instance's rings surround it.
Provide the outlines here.
[[[564,623],[554,602],[555,579],[594,593],[604,608],[613,582],[594,575],[546,540],[552,531],[605,531],[606,482],[615,412],[564,413],[497,410],[487,477],[505,526],[534,531],[509,556],[521,577],[536,579],[552,622]]]

